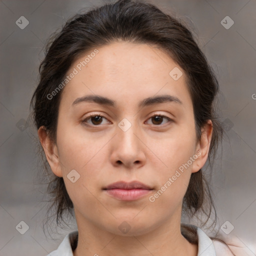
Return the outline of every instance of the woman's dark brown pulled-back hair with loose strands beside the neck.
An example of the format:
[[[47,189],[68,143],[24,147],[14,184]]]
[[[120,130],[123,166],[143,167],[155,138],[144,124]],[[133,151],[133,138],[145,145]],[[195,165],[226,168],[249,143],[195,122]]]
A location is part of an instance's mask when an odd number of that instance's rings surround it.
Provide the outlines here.
[[[64,80],[76,59],[95,47],[118,41],[158,47],[184,70],[193,104],[197,141],[204,124],[208,119],[212,121],[213,131],[207,158],[211,163],[223,133],[214,104],[219,91],[214,71],[185,23],[141,0],[118,0],[94,7],[86,13],[77,13],[66,21],[61,31],[49,38],[45,46],[45,57],[39,65],[39,83],[30,102],[36,128],[44,126],[52,141],[56,141],[61,90],[52,99],[48,99],[47,95]],[[48,175],[51,173],[45,157],[44,171]],[[65,212],[73,213],[73,204],[63,178],[51,175],[47,192],[52,195],[49,209],[55,208],[58,225]],[[198,212],[206,214],[205,224],[212,211],[215,222],[216,210],[209,183],[200,169],[191,174],[183,197],[182,212],[187,216],[194,216]]]

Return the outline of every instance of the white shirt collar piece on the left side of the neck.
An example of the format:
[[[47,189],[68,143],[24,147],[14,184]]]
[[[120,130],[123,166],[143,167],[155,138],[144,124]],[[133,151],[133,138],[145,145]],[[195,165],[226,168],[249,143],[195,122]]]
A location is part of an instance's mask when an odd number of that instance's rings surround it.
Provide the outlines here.
[[[57,249],[50,252],[47,256],[73,256],[73,249],[77,245],[78,231],[68,233],[59,244]]]

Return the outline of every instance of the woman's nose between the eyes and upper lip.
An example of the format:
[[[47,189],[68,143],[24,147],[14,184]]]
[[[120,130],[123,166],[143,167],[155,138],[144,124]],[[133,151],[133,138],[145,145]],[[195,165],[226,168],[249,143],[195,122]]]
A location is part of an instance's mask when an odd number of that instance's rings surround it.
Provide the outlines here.
[[[111,163],[114,166],[124,165],[126,168],[138,168],[145,164],[145,144],[135,124],[126,131],[118,126],[117,134],[112,140]]]

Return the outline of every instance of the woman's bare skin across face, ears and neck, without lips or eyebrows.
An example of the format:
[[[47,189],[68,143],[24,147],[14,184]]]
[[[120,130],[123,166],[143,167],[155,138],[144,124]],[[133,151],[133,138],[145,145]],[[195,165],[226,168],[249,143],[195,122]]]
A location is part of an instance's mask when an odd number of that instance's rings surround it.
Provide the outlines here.
[[[212,122],[208,120],[201,139],[196,141],[184,71],[161,49],[114,42],[98,50],[63,88],[56,143],[43,126],[38,129],[51,170],[63,177],[74,205],[79,238],[73,255],[196,256],[197,245],[180,233],[181,206],[191,173],[207,159]],[[87,54],[77,59],[67,73]],[[169,75],[174,67],[183,73],[178,80]],[[72,105],[76,98],[88,94],[115,100],[116,107],[94,102]],[[178,97],[182,104],[138,107],[140,100],[163,94]],[[87,119],[90,126],[86,126],[82,120],[90,113],[104,118],[101,123]],[[152,117],[157,114],[172,121],[157,121]],[[131,123],[126,131],[118,127],[123,118]],[[200,152],[197,159],[150,202],[149,196],[196,152]],[[80,175],[74,183],[67,178],[72,169]],[[133,201],[113,198],[102,190],[119,180],[138,180],[153,190]],[[127,233],[118,228],[123,221],[130,226]]]

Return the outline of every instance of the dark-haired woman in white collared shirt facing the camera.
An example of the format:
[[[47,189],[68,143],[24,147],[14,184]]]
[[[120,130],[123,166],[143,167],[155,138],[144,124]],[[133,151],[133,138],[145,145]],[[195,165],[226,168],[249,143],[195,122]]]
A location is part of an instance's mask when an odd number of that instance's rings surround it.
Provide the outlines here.
[[[233,255],[181,223],[214,212],[201,168],[222,135],[217,92],[191,32],[152,4],[68,20],[31,100],[57,223],[74,212],[78,229],[49,255]]]

